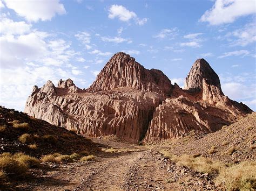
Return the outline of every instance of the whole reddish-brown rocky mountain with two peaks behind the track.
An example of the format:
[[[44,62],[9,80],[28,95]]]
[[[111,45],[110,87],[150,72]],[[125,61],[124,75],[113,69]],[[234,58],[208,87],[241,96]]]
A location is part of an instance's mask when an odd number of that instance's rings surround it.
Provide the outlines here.
[[[183,137],[191,130],[214,132],[252,110],[223,94],[204,59],[194,63],[183,90],[160,70],[116,53],[85,90],[70,79],[58,87],[51,81],[33,87],[25,112],[83,135],[116,135],[138,143]]]

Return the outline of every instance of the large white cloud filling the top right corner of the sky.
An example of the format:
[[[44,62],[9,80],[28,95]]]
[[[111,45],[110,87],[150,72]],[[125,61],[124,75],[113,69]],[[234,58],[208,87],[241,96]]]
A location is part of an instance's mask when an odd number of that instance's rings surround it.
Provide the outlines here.
[[[254,0],[217,0],[210,10],[207,10],[200,18],[200,22],[208,22],[210,25],[233,23],[241,16],[251,15],[256,12]]]

